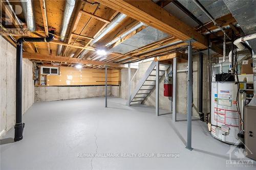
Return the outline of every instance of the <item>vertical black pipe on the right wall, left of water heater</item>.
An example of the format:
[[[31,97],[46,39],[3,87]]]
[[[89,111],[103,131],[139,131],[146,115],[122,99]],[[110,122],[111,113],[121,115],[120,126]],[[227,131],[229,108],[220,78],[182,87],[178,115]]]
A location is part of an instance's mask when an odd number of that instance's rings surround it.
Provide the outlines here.
[[[204,122],[204,113],[203,113],[203,59],[204,54],[199,52],[199,116],[200,120]]]

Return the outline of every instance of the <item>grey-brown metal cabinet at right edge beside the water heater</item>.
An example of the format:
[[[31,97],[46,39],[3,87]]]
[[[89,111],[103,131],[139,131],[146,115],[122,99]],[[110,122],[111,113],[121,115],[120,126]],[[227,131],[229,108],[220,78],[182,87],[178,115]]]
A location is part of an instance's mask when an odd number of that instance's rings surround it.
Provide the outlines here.
[[[256,106],[244,107],[244,141],[247,157],[256,160]]]

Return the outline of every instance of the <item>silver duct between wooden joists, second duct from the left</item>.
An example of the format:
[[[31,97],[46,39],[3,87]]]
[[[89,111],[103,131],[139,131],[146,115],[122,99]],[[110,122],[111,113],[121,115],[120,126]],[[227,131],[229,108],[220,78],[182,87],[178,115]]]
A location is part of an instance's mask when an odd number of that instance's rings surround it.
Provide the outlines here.
[[[63,19],[62,19],[62,25],[61,25],[61,31],[60,31],[60,41],[64,41],[64,38],[66,36],[69,22],[75,7],[76,0],[66,0],[65,10],[63,13]],[[61,54],[62,45],[58,45],[58,51],[57,55],[59,56]]]

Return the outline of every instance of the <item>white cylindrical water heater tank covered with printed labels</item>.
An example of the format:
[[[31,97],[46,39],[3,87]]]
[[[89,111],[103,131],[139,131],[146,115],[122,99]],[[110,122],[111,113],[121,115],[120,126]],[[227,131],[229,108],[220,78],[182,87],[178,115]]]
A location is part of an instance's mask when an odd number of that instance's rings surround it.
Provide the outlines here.
[[[246,83],[240,82],[240,90],[246,89]],[[242,113],[241,94],[237,100],[238,85],[236,82],[211,83],[211,135],[215,138],[234,144],[241,129],[241,117],[237,104]]]

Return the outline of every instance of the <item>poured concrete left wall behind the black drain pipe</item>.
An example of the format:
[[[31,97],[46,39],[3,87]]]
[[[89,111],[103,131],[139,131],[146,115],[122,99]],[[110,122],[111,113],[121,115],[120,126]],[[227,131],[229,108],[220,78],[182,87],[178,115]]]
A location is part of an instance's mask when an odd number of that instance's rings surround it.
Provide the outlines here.
[[[0,137],[15,124],[16,48],[0,36]],[[34,103],[33,63],[23,59],[23,113]]]

